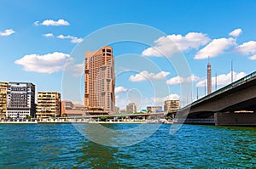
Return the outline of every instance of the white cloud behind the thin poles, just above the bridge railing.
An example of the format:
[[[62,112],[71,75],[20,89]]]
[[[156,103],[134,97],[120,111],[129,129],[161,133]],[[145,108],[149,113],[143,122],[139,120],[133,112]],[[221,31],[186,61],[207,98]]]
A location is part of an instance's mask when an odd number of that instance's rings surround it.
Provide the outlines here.
[[[246,76],[245,72],[236,73],[233,71],[233,82],[241,79],[242,77]],[[212,77],[212,86],[215,86],[215,76]],[[222,74],[217,76],[217,85],[218,86],[225,86],[231,83],[231,72],[228,74]],[[196,87],[205,87],[207,84],[207,79],[201,80],[200,82],[196,83]]]

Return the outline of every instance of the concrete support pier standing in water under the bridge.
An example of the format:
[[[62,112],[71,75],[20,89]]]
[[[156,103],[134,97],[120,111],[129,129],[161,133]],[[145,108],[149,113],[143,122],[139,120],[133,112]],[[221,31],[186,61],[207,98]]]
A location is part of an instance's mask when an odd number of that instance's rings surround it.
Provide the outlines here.
[[[216,126],[256,126],[256,112],[217,112],[214,113],[214,120]]]

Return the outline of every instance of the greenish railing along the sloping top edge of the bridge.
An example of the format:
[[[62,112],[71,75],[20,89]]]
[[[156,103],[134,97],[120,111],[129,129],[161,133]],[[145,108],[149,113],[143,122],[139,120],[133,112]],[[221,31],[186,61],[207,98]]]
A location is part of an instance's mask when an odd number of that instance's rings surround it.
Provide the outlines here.
[[[207,96],[205,96],[205,97],[203,97],[201,99],[195,100],[195,102],[193,102],[191,104],[188,104],[187,106],[181,108],[181,110],[188,109],[192,105],[199,104],[200,102],[203,102],[203,101],[205,101],[207,99],[210,99],[210,98],[212,98],[212,97],[214,97],[214,96],[216,96],[216,95],[218,95],[220,93],[224,93],[224,92],[230,90],[233,87],[237,87],[237,86],[240,86],[241,84],[244,84],[246,82],[250,82],[250,81],[252,81],[254,79],[256,79],[256,71],[254,71],[253,73],[251,73],[251,74],[249,74],[247,76],[242,77],[241,79],[237,80],[236,82],[232,82],[229,85],[227,85],[225,87],[222,87],[222,88],[218,89],[217,91],[208,94]]]

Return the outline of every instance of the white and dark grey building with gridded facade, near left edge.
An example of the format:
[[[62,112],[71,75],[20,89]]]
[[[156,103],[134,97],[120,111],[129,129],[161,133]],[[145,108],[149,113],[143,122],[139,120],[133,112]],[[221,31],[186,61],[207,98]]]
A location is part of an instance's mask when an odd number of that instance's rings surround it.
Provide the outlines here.
[[[31,82],[9,82],[7,117],[35,116],[35,85]]]

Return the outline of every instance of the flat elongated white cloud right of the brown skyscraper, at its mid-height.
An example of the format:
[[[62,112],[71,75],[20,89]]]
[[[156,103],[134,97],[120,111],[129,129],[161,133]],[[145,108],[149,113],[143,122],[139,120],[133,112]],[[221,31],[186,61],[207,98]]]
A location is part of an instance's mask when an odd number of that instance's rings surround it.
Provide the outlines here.
[[[159,73],[148,73],[147,70],[143,70],[139,74],[135,76],[130,76],[129,80],[131,82],[142,82],[142,81],[148,81],[148,80],[159,80],[164,79],[166,76],[168,76],[170,73],[166,71],[160,71]]]

